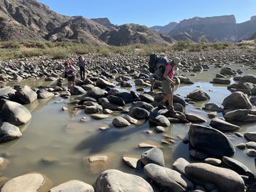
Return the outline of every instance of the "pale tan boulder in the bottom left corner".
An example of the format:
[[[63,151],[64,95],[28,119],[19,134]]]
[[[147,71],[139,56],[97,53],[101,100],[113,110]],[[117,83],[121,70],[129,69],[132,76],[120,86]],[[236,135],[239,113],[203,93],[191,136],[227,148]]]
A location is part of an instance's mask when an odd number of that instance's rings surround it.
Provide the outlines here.
[[[50,183],[42,174],[31,173],[12,178],[4,184],[1,192],[18,192],[18,191],[48,191]]]

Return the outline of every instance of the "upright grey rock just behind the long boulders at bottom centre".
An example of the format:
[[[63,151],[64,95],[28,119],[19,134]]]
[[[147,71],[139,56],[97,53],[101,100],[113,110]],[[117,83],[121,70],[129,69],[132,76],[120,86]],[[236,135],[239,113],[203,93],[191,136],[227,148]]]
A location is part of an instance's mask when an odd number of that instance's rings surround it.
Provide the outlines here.
[[[141,162],[146,164],[157,164],[159,166],[165,166],[165,159],[162,150],[154,147],[144,152],[140,157]]]

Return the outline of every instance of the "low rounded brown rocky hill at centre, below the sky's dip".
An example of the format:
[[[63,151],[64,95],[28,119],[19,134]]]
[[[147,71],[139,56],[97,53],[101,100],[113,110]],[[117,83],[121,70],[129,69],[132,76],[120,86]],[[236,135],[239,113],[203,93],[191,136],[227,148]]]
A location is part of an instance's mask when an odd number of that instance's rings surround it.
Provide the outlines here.
[[[146,26],[140,26],[138,24],[124,24],[118,26],[113,30],[105,31],[100,37],[108,45],[131,45],[131,44],[157,44],[157,45],[169,45],[165,39],[159,36],[154,31],[151,31]]]

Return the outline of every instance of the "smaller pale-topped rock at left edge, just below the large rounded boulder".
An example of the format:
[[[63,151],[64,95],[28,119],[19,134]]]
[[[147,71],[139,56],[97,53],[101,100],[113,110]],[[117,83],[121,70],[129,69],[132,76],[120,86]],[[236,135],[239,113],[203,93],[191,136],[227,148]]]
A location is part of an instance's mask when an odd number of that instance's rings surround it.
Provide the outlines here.
[[[20,128],[11,123],[4,122],[0,127],[0,142],[7,142],[12,139],[18,139],[22,136]]]

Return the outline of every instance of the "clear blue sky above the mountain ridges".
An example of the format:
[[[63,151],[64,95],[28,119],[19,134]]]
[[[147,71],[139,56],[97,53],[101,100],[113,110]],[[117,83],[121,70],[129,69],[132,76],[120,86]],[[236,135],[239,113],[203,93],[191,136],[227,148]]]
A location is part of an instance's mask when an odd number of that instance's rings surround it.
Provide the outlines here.
[[[235,15],[241,23],[256,15],[256,0],[38,0],[62,15],[109,18],[113,24],[164,26],[187,18]]]

